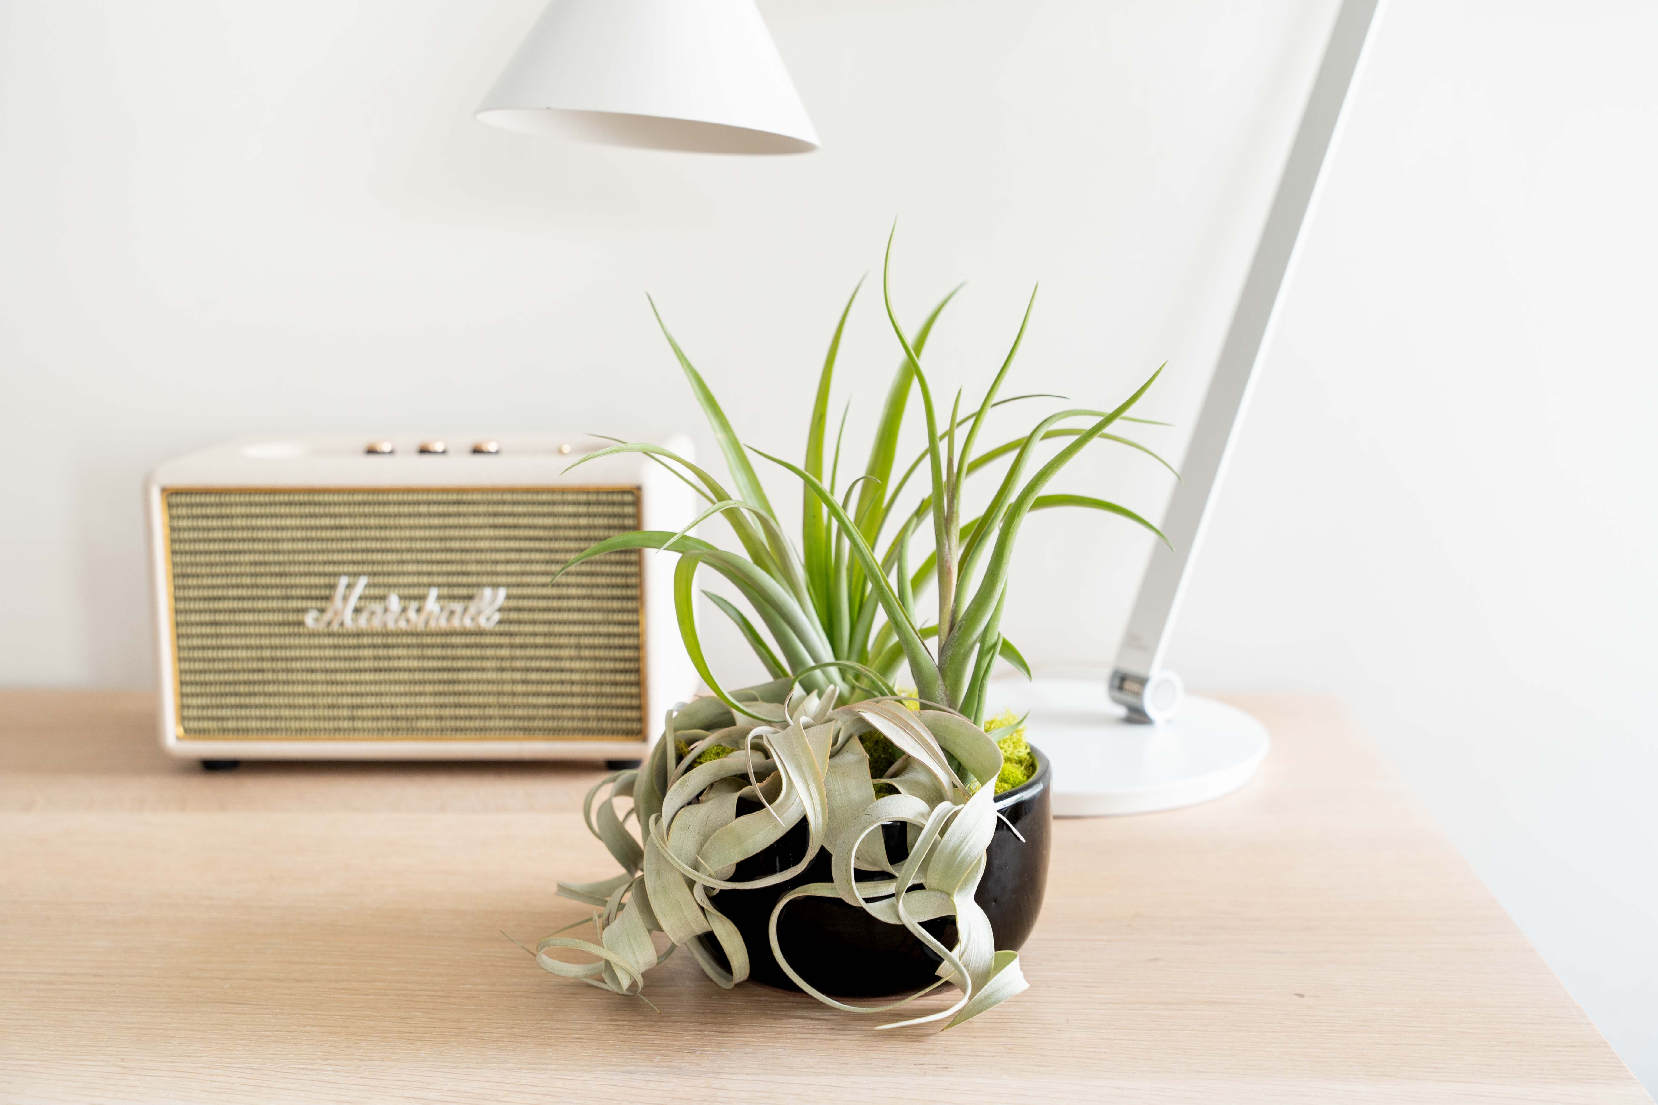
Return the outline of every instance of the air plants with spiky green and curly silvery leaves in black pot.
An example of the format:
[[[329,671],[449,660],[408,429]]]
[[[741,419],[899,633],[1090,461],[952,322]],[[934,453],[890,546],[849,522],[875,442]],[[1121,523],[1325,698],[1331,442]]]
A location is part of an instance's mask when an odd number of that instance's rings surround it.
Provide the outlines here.
[[[1031,293],[1020,331],[978,406],[963,414],[957,393],[948,419],[940,422],[940,408],[922,369],[922,351],[955,292],[914,335],[907,333],[892,310],[890,260],[889,237],[882,298],[904,359],[887,393],[864,474],[846,489],[837,487],[846,416],[832,456],[826,446],[836,356],[857,290],[841,311],[824,358],[801,466],[744,449],[660,313],[657,321],[713,427],[734,492],[685,457],[652,444],[618,442],[587,457],[648,454],[708,502],[706,510],[678,533],[612,537],[574,557],[560,573],[618,550],[678,553],[675,610],[680,633],[713,694],[670,711],[663,736],[643,767],[613,772],[587,795],[587,825],[622,871],[597,883],[559,885],[560,895],[597,908],[592,924],[599,936],[597,943],[560,934],[542,939],[536,958],[554,974],[580,977],[618,994],[640,994],[645,972],[683,946],[715,982],[731,987],[749,974],[749,949],[721,913],[720,893],[788,883],[827,850],[832,880],[789,888],[769,921],[771,953],[801,989],[836,1009],[882,1014],[952,984],[958,997],[947,1009],[880,1025],[943,1021],[950,1027],[1026,987],[1016,953],[995,948],[990,921],[975,901],[985,852],[996,828],[996,784],[1011,782],[1003,777],[1005,769],[1018,767],[998,746],[998,737],[1006,744],[1005,734],[1018,736],[1018,721],[1001,717],[990,732],[983,726],[991,666],[1001,658],[1030,674],[1020,651],[1001,636],[1013,547],[1020,525],[1033,510],[1054,507],[1103,510],[1162,537],[1151,522],[1114,502],[1045,492],[1050,480],[1093,442],[1111,441],[1151,454],[1109,431],[1117,422],[1146,421],[1131,417],[1129,409],[1162,369],[1114,409],[1061,409],[1030,432],[977,452],[991,409],[1018,399],[1058,398],[998,399],[1036,295]],[[894,480],[899,432],[912,391],[920,394],[927,444]],[[1046,441],[1064,444],[1026,475]],[[799,547],[784,535],[749,452],[802,484]],[[963,522],[968,477],[1005,457],[1011,462],[988,505]],[[928,482],[920,500],[900,510],[904,489],[924,466]],[[723,515],[731,525],[741,553],[688,535],[713,515]],[[910,547],[927,533],[932,550],[919,565],[912,563]],[[877,552],[884,537],[885,550]],[[730,580],[764,626],[761,631],[736,605],[708,595],[736,623],[771,673],[771,683],[728,692],[710,671],[695,618],[695,578],[703,567]],[[937,591],[932,620],[920,606],[928,586]],[[902,666],[909,668],[912,692],[900,694],[894,686]],[[1028,759],[1021,741],[1018,747]],[[743,799],[761,808],[739,813]],[[630,800],[632,808],[618,813],[618,800]],[[637,835],[628,830],[628,820]],[[774,845],[802,820],[807,828],[804,860],[764,878],[733,881],[741,860]],[[889,852],[882,830],[894,823],[905,827],[907,848],[895,848],[900,855]],[[812,987],[789,966],[778,943],[778,918],[791,901],[804,896],[839,898],[877,921],[902,924],[938,958],[937,981],[899,1001],[874,1006],[842,1002]],[[933,918],[953,918],[953,946],[922,926]],[[652,938],[658,931],[671,941],[663,951]],[[597,961],[559,959],[552,954],[559,949],[584,951]]]

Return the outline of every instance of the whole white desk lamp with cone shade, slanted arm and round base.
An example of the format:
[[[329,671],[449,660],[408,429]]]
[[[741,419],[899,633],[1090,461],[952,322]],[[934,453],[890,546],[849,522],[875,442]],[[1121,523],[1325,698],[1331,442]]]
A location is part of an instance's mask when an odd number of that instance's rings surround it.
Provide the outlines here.
[[[1336,15],[1164,519],[1174,550],[1152,552],[1109,684],[998,681],[998,704],[1030,711],[1036,742],[1053,760],[1059,817],[1207,802],[1248,782],[1267,755],[1265,726],[1187,697],[1162,659],[1378,5],[1345,0]],[[657,149],[817,147],[753,0],[552,0],[478,118]]]

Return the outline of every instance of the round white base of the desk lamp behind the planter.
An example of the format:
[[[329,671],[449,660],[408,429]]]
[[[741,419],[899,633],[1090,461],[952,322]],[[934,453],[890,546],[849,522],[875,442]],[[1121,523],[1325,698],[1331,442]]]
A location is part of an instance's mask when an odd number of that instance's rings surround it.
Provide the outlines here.
[[[1267,727],[1185,696],[1161,726],[1124,721],[1104,679],[998,679],[991,709],[1030,712],[1031,744],[1053,760],[1054,817],[1177,810],[1232,794],[1267,757]]]

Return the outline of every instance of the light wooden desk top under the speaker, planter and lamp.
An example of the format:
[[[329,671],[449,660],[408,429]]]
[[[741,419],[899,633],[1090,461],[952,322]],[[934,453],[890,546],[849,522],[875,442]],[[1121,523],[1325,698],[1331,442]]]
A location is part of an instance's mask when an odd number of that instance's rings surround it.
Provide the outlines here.
[[[1058,822],[1031,989],[938,1035],[686,954],[662,1012],[539,971],[501,931],[610,873],[592,765],[204,774],[149,696],[0,692],[0,1098],[1650,1100],[1340,706],[1234,701],[1260,777]]]

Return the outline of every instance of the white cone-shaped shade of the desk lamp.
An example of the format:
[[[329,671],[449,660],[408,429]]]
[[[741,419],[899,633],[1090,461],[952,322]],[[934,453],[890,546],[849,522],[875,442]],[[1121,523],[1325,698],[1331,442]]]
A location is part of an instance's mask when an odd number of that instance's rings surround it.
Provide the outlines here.
[[[552,0],[478,119],[608,146],[817,149],[754,0]]]

